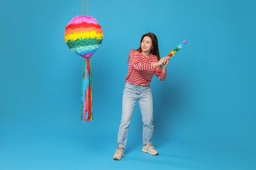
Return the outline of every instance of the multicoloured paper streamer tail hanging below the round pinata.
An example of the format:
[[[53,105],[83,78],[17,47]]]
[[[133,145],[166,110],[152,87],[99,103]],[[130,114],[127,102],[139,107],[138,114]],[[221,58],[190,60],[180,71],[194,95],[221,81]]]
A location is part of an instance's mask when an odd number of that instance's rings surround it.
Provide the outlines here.
[[[83,61],[83,78],[81,88],[81,119],[83,122],[93,120],[92,107],[93,78],[91,76],[90,58]]]

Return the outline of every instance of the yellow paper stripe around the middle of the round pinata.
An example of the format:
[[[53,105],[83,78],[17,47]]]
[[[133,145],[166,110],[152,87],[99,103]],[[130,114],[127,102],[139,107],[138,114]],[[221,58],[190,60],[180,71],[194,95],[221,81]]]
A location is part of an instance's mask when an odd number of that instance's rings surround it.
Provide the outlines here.
[[[95,30],[87,33],[73,33],[65,36],[65,42],[69,40],[75,41],[77,39],[103,39],[103,33],[96,33]]]

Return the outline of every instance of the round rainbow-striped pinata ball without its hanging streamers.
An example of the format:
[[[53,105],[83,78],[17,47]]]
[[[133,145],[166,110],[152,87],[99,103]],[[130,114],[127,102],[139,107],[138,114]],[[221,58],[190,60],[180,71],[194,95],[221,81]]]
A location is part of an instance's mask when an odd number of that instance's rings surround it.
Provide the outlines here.
[[[66,26],[64,37],[72,52],[91,58],[102,42],[103,31],[92,16],[75,16]]]

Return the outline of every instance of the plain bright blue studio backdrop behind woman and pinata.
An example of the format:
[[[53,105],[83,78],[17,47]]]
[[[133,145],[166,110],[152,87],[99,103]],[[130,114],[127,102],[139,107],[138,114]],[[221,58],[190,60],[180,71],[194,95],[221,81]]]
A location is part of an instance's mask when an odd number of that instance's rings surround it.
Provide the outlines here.
[[[255,1],[89,1],[104,41],[91,59],[94,120],[85,124],[83,58],[64,42],[81,2],[1,1],[0,169],[256,168]],[[151,83],[160,155],[141,152],[137,106],[125,157],[114,161],[127,55],[147,32],[161,57],[188,41],[165,82]]]

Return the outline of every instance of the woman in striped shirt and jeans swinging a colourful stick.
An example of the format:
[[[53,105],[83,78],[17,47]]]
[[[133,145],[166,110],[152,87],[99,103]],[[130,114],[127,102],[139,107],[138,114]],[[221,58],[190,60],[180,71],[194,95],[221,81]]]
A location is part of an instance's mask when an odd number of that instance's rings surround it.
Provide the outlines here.
[[[123,106],[121,124],[117,136],[117,149],[114,160],[121,160],[127,142],[127,135],[133,109],[136,101],[139,101],[140,112],[143,122],[143,148],[142,152],[158,155],[158,151],[152,146],[153,126],[153,100],[150,82],[155,74],[160,80],[165,80],[167,75],[166,66],[169,57],[161,58],[158,50],[158,39],[154,33],[142,35],[140,47],[129,53],[129,69],[125,78],[123,91]],[[161,65],[163,64],[163,67]]]

